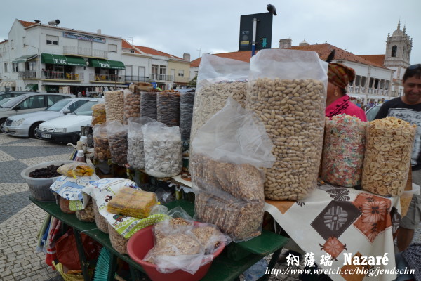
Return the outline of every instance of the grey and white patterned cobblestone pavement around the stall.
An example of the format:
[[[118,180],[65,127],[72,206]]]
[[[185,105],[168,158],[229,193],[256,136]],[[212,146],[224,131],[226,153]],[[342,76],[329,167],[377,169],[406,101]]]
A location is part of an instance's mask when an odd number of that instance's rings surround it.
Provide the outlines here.
[[[0,280],[58,281],[62,277],[45,263],[45,254],[36,251],[36,234],[46,213],[32,204],[22,169],[41,162],[67,160],[73,148],[0,133]],[[418,228],[414,242],[421,242]],[[285,252],[286,249],[283,250]],[[270,256],[266,257],[269,261]],[[276,269],[286,270],[286,263]],[[303,268],[302,263],[299,268]],[[241,278],[243,280],[243,278]],[[297,274],[272,275],[271,281],[298,281]],[[216,280],[215,280],[216,281]]]

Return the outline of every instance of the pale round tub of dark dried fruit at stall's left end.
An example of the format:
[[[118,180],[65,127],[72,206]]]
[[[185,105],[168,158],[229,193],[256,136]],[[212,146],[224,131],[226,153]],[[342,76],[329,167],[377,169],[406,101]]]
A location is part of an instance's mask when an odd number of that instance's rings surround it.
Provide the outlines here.
[[[62,164],[72,163],[74,161],[50,161],[32,165],[24,169],[20,176],[25,179],[34,199],[44,202],[55,202],[55,196],[50,191],[50,186],[61,176],[57,169]]]

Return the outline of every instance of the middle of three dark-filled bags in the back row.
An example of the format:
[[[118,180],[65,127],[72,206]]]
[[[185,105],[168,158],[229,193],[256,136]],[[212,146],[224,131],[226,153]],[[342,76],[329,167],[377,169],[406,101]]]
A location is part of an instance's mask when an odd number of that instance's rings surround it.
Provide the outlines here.
[[[156,121],[168,127],[180,125],[180,92],[162,91],[156,95]]]

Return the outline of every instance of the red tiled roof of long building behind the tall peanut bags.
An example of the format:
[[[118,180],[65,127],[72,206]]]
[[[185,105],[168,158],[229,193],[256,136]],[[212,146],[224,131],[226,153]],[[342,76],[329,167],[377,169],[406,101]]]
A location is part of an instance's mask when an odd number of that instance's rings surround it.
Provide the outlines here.
[[[330,52],[335,50],[335,60],[347,60],[347,61],[355,62],[355,63],[363,63],[364,65],[373,65],[375,67],[386,68],[383,66],[382,63],[378,64],[366,58],[361,58],[361,56],[359,55],[354,55],[353,53],[349,53],[348,51],[342,50],[342,48],[338,48],[327,43],[307,45],[307,46],[293,46],[288,49],[314,51],[319,55],[319,58],[321,60],[326,60]],[[217,55],[218,57],[221,57],[221,58],[232,58],[234,60],[242,60],[248,63],[251,58],[251,51],[238,51],[238,52],[232,52],[232,53],[215,53],[213,55]],[[199,67],[200,60],[201,58],[197,58],[196,60],[193,60],[192,63],[190,63],[190,67]]]

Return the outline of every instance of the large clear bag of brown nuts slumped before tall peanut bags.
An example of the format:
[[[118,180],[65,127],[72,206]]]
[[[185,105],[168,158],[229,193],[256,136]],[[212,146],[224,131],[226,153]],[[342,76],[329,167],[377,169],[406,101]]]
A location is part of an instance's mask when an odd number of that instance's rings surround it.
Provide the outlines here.
[[[197,131],[192,188],[198,221],[213,223],[235,242],[260,235],[265,173],[274,164],[265,125],[233,98]]]

